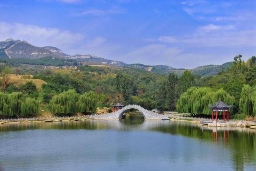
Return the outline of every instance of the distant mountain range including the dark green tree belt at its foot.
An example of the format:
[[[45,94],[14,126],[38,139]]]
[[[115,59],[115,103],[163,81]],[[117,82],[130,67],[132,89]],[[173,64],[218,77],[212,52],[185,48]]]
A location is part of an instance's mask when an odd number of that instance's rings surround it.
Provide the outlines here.
[[[181,75],[186,69],[177,69],[171,66],[144,64],[126,64],[121,61],[108,60],[97,56],[87,55],[68,55],[59,48],[52,46],[36,47],[26,41],[7,39],[0,42],[0,62],[11,65],[31,64],[45,66],[72,66],[77,64],[94,66],[118,66],[136,70],[144,70],[157,74],[168,74],[174,72]],[[216,75],[221,70],[226,70],[232,65],[227,62],[222,65],[207,65],[189,69],[193,74],[199,76]]]

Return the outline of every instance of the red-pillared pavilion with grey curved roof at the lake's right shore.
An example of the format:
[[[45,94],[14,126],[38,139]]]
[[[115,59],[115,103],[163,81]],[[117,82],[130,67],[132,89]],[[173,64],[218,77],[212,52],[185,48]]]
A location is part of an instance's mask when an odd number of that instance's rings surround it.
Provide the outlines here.
[[[229,120],[229,109],[232,107],[232,105],[226,105],[222,101],[218,101],[215,105],[209,105],[209,107],[212,108],[212,121],[214,117],[214,111],[216,121],[218,121],[218,111],[223,112],[223,121],[225,121],[225,111],[227,111],[227,120]]]

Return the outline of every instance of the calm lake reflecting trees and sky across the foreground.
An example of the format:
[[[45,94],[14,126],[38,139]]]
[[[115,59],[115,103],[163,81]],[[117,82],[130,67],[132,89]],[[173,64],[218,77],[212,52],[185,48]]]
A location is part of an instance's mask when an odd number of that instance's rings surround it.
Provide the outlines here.
[[[0,148],[4,171],[256,170],[255,130],[179,121],[0,125]]]

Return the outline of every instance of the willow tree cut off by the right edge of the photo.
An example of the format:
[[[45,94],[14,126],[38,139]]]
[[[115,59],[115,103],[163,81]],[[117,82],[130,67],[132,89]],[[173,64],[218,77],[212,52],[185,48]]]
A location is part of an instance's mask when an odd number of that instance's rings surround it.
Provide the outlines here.
[[[246,115],[256,115],[256,87],[244,85],[239,101],[240,110]]]

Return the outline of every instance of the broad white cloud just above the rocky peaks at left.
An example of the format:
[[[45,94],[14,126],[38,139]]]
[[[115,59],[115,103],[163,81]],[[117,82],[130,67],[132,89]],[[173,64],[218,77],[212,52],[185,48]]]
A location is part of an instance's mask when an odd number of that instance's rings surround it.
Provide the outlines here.
[[[35,46],[56,46],[63,48],[82,40],[83,37],[81,34],[73,34],[68,30],[57,28],[0,22],[1,40],[13,38],[15,40],[26,40]]]

